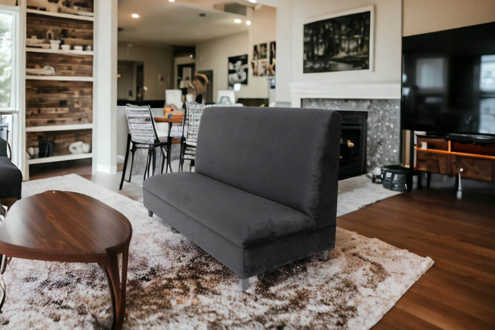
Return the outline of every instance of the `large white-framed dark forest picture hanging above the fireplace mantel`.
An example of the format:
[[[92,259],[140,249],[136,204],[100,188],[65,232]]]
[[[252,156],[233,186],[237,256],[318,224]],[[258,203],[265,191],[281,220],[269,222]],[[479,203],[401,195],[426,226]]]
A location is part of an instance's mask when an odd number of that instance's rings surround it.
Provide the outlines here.
[[[373,70],[374,6],[304,24],[303,73]]]

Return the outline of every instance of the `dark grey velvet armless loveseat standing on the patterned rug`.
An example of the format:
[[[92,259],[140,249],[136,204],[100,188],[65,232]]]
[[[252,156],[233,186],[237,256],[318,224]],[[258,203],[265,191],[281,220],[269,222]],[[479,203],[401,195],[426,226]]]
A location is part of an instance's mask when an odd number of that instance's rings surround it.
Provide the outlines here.
[[[196,173],[155,175],[144,204],[241,278],[335,245],[342,116],[331,110],[211,107]]]

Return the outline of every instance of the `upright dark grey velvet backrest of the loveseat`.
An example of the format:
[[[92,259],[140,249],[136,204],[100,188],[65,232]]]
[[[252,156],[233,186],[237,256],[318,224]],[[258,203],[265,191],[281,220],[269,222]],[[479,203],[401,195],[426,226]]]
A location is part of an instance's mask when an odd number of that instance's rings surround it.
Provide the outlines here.
[[[341,122],[332,110],[207,108],[195,171],[335,225]]]

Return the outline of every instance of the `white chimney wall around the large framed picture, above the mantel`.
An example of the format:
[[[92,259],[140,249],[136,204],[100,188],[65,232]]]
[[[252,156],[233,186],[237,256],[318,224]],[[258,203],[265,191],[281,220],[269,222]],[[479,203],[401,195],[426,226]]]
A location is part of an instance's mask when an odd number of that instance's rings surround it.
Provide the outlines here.
[[[276,100],[291,101],[290,83],[372,84],[398,86],[401,70],[400,0],[260,0],[277,7]],[[322,16],[374,5],[374,70],[352,70],[303,74],[303,25]],[[393,88],[399,97],[399,88]]]

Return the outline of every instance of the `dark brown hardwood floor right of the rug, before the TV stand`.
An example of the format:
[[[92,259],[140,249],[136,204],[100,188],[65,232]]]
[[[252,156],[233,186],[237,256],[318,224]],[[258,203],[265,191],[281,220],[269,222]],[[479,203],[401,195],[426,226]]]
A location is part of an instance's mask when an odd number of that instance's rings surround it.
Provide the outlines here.
[[[495,329],[493,196],[414,190],[345,214],[337,226],[435,261],[374,330]]]

